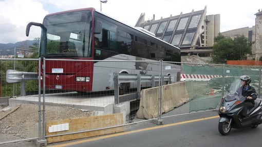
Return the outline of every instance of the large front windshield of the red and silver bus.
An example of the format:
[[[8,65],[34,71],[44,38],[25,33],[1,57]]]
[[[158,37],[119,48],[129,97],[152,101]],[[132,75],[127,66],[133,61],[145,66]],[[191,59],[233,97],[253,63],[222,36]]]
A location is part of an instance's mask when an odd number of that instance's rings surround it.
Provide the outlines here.
[[[90,11],[48,15],[43,25],[47,33],[42,32],[40,57],[91,57]]]

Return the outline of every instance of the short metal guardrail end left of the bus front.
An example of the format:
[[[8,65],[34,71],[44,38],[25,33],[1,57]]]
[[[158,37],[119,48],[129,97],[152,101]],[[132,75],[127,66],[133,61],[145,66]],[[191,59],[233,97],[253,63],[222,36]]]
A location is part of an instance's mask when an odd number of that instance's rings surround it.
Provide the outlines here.
[[[26,80],[38,79],[38,73],[34,72],[21,72],[17,70],[6,71],[6,81],[9,83],[21,82],[21,96],[25,96]]]

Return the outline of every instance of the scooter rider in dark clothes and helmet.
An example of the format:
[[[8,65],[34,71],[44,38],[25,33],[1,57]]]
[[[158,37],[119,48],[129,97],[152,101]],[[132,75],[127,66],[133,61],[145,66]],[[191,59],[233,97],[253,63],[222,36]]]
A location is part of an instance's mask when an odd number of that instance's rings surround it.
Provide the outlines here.
[[[256,99],[256,90],[254,87],[250,86],[251,77],[243,75],[240,76],[241,85],[242,85],[242,96],[246,97],[245,107],[242,109],[241,118],[247,116],[248,109],[251,109],[255,106]],[[247,90],[252,90],[252,92],[248,92]]]

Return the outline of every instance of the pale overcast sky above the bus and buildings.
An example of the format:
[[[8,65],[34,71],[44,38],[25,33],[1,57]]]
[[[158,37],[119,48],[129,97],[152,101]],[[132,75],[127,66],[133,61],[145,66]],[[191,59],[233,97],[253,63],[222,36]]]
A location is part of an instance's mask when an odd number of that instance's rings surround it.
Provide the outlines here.
[[[31,27],[26,37],[29,22],[42,23],[45,15],[79,8],[93,7],[100,11],[100,0],[0,0],[0,43],[16,43],[40,37],[41,29]],[[220,14],[220,32],[255,26],[255,13],[262,9],[260,0],[108,0],[102,3],[102,12],[123,23],[135,26],[141,13],[146,19],[155,19],[203,10],[207,15]]]

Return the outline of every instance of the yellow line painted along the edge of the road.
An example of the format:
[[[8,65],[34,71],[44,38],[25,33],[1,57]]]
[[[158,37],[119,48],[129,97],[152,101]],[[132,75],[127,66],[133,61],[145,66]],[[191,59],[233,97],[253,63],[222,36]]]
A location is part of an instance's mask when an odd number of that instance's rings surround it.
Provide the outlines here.
[[[90,139],[85,139],[85,140],[80,140],[80,141],[74,141],[74,142],[68,142],[68,143],[58,144],[58,145],[51,145],[51,146],[53,146],[53,147],[63,147],[63,146],[68,146],[68,145],[76,145],[76,144],[80,144],[80,143],[96,141],[96,140],[110,138],[110,137],[116,137],[116,136],[121,136],[121,135],[126,135],[126,134],[138,133],[138,132],[142,132],[142,131],[148,131],[148,130],[154,130],[154,129],[159,129],[159,128],[171,127],[171,126],[178,125],[178,124],[184,124],[184,123],[191,123],[191,122],[196,122],[196,121],[214,119],[214,118],[218,118],[218,117],[219,116],[212,116],[212,117],[205,117],[205,118],[193,119],[193,120],[188,120],[188,121],[176,122],[176,123],[171,123],[171,124],[158,125],[157,127],[151,127],[151,128],[139,129],[139,130],[134,130],[134,131],[122,132],[122,133],[117,133],[117,134],[111,134],[111,135],[95,137],[95,138],[90,138]]]

